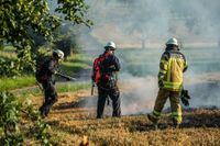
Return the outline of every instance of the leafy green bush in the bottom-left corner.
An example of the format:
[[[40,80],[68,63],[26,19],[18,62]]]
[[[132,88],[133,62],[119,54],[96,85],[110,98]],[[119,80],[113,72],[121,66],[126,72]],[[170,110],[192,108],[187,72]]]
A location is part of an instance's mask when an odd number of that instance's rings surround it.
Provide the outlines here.
[[[21,145],[23,138],[19,130],[21,104],[9,92],[0,92],[0,145]]]

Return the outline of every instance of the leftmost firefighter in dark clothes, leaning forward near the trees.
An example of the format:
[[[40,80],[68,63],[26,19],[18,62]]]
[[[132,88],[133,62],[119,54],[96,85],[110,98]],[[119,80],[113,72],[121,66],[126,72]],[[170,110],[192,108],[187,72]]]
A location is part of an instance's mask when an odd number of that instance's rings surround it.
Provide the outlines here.
[[[44,103],[40,108],[42,116],[47,116],[51,106],[57,101],[57,92],[55,90],[55,77],[58,64],[64,58],[64,53],[59,49],[53,50],[53,57],[43,63],[37,79],[44,89]]]

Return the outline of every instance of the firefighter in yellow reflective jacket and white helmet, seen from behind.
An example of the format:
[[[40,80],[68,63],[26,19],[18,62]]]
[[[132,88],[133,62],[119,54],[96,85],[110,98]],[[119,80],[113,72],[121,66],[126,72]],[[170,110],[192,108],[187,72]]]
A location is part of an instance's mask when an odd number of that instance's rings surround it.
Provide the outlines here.
[[[182,123],[180,92],[183,90],[183,72],[187,69],[185,56],[179,52],[176,38],[166,43],[166,50],[161,57],[158,72],[158,94],[154,111],[147,114],[151,122],[157,126],[157,121],[166,100],[169,98],[174,127]]]

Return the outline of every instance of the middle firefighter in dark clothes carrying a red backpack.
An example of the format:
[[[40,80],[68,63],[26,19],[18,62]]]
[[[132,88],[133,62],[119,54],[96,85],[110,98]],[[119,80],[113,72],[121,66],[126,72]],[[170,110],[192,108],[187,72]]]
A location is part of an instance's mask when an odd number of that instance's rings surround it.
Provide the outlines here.
[[[119,59],[114,56],[116,44],[107,43],[105,53],[94,61],[91,79],[98,87],[97,119],[103,115],[108,98],[112,100],[112,116],[121,116],[120,91],[117,86],[117,72],[120,70]]]

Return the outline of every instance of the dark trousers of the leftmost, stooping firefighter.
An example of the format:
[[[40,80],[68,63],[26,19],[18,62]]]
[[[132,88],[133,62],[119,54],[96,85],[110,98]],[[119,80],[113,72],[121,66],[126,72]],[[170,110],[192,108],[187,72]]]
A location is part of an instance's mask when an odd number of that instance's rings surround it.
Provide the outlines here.
[[[51,106],[57,101],[57,93],[54,88],[53,81],[44,82],[42,83],[42,86],[44,88],[45,101],[43,105],[40,108],[40,112],[42,115],[47,116]]]

